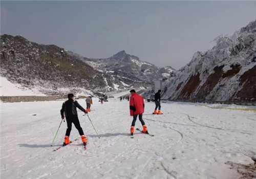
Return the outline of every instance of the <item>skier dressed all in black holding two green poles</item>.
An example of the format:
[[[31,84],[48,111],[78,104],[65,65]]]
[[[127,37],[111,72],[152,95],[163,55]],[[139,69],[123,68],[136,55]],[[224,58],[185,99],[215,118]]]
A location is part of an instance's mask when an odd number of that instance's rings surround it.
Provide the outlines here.
[[[74,100],[73,94],[68,94],[68,99],[69,99],[68,101],[63,102],[62,108],[60,110],[61,118],[64,119],[66,116],[67,125],[68,125],[66,136],[65,136],[65,142],[63,143],[63,146],[66,146],[69,143],[71,143],[71,141],[69,140],[69,136],[72,129],[72,123],[74,123],[76,129],[78,130],[79,135],[81,136],[83,145],[86,146],[87,139],[86,139],[86,136],[84,136],[83,130],[80,126],[76,108],[79,108],[84,113],[88,113],[88,111],[84,109],[82,106],[80,106],[80,104],[77,101]]]

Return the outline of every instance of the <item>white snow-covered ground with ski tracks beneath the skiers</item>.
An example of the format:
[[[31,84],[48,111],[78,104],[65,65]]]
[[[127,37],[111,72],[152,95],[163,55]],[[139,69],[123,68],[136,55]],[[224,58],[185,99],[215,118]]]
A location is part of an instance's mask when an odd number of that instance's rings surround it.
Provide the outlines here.
[[[152,115],[153,102],[145,102],[144,121],[154,137],[136,131],[129,136],[129,102],[94,101],[89,117],[78,109],[88,138],[61,146],[67,123],[60,124],[63,101],[2,103],[1,178],[39,179],[238,179],[226,162],[250,164],[256,153],[255,112],[211,109],[193,103],[162,103],[164,115]],[[78,102],[85,107],[84,100]],[[36,116],[33,116],[36,115]],[[142,128],[140,121],[136,128]],[[71,140],[79,137],[73,126]]]

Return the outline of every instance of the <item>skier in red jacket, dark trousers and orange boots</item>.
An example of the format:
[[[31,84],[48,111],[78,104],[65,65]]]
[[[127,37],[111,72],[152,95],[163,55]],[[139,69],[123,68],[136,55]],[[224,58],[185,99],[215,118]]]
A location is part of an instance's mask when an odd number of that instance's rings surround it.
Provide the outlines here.
[[[134,89],[130,91],[132,97],[130,99],[130,115],[133,116],[133,122],[131,126],[131,135],[133,136],[134,134],[134,126],[137,120],[137,117],[139,115],[139,120],[143,126],[143,132],[148,133],[145,122],[142,119],[142,114],[144,113],[144,99],[142,96],[139,96]]]

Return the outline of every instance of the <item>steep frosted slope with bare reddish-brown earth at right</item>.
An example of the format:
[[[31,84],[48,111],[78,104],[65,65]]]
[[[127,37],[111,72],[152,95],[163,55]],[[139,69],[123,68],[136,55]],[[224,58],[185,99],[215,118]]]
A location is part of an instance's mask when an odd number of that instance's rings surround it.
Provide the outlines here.
[[[256,101],[256,20],[215,41],[166,81],[163,98]]]

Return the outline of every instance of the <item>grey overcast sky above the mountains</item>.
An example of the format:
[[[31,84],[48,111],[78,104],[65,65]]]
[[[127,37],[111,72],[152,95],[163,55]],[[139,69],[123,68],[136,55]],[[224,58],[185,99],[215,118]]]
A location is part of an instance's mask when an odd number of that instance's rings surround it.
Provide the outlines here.
[[[255,19],[255,1],[1,1],[1,34],[90,58],[125,50],[175,69]]]

